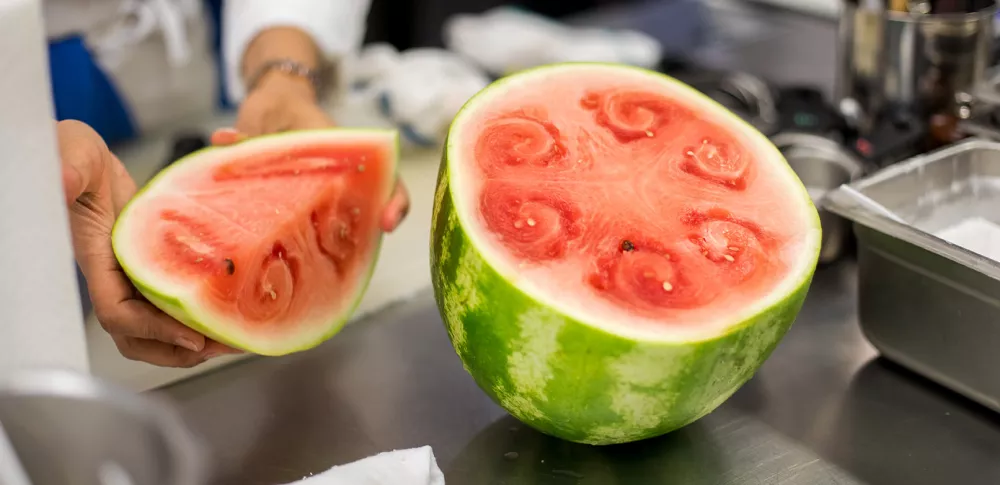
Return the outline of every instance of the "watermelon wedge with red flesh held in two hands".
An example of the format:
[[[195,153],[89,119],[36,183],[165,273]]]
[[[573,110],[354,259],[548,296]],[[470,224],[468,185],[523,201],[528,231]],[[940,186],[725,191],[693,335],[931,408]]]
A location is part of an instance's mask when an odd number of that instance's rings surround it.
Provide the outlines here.
[[[378,257],[394,131],[263,136],[182,158],[125,207],[112,244],[150,302],[261,355],[336,334]]]

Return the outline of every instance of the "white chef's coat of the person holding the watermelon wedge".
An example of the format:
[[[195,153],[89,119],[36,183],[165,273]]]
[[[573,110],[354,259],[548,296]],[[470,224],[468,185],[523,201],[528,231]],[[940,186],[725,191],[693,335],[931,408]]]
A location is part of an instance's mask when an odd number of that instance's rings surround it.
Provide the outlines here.
[[[42,0],[50,39],[78,34],[138,131],[217,108],[219,73],[233,102],[240,62],[262,30],[298,27],[335,62],[363,40],[370,0],[223,0],[222,59],[204,0]],[[221,62],[221,69],[217,69]]]

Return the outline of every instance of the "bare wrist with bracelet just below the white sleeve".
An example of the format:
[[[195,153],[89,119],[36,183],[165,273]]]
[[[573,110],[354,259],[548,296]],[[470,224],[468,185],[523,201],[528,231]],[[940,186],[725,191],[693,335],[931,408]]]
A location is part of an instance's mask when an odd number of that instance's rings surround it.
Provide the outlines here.
[[[273,69],[263,70],[276,60],[290,60],[314,71],[320,68],[322,56],[316,43],[307,33],[295,27],[271,27],[262,31],[250,42],[240,62],[244,83],[254,83],[251,89],[281,86],[315,99],[316,87],[308,79]],[[259,76],[259,77],[258,77]]]

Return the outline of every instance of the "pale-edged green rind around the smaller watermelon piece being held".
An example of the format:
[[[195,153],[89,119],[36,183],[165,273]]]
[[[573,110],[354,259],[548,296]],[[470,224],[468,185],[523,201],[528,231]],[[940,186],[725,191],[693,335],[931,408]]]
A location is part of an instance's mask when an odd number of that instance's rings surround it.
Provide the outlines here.
[[[300,135],[310,135],[314,133],[321,133],[327,131],[336,130],[339,133],[352,133],[352,132],[370,132],[370,131],[381,131],[372,129],[359,129],[359,128],[332,128],[325,130],[299,130],[295,132],[285,132],[285,133],[275,133],[268,135],[261,135],[252,138],[248,141],[241,142],[242,144],[257,143],[257,142],[268,142],[276,141],[287,137],[296,137]],[[399,138],[394,137],[395,143],[393,147],[393,153],[396,155],[388,160],[390,164],[389,172],[391,173],[391,178],[393,180],[398,176],[398,153],[399,153]],[[196,152],[190,153],[177,161],[171,163],[168,167],[157,173],[151,180],[149,180],[139,191],[129,200],[129,202],[122,209],[118,220],[115,221],[114,228],[112,229],[111,242],[112,248],[115,252],[115,257],[118,259],[119,265],[121,265],[122,270],[128,276],[132,285],[142,294],[146,300],[152,303],[155,307],[160,309],[162,312],[171,316],[178,322],[184,324],[185,326],[195,330],[196,332],[215,340],[216,342],[223,343],[230,347],[240,349],[246,352],[251,352],[258,355],[265,356],[281,356],[292,354],[296,352],[302,352],[314,348],[323,342],[329,340],[337,333],[343,329],[344,325],[350,320],[351,316],[357,310],[358,305],[361,303],[361,299],[371,282],[372,273],[375,271],[375,265],[378,262],[378,256],[381,252],[382,246],[382,234],[380,233],[378,237],[374,240],[374,250],[372,252],[372,257],[366,262],[366,269],[364,275],[358,280],[357,286],[354,288],[354,292],[349,299],[349,305],[346,305],[340,312],[335,315],[331,315],[330,322],[328,325],[323,326],[323,332],[313,333],[305,336],[305,338],[299,339],[288,339],[286,341],[276,342],[270,339],[266,342],[257,342],[252,340],[236,338],[232,335],[231,331],[227,329],[231,328],[233,325],[239,325],[238,320],[233,321],[218,321],[212,318],[206,318],[199,315],[200,312],[195,311],[192,305],[185,303],[182,298],[174,295],[167,295],[164,292],[157,289],[156,281],[147,281],[140,278],[136,271],[134,271],[133,265],[141,265],[142,261],[130,261],[121,256],[117,248],[123,247],[128,244],[141,243],[141,241],[131,241],[124,236],[122,227],[127,224],[129,207],[136,201],[140,200],[143,194],[151,187],[154,187],[158,180],[165,178],[168,173],[174,170],[184,169],[190,166],[192,163],[197,163],[197,160],[219,153],[225,150],[226,147],[212,146],[203,148]]]

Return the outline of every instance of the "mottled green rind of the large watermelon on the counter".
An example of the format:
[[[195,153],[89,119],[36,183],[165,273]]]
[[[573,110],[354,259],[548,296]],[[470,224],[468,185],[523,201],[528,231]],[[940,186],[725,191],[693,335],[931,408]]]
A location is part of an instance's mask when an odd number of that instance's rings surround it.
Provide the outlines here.
[[[484,93],[504,89],[508,80],[561,65],[603,64],[565,63],[521,71],[471,98],[456,120],[474,109]],[[687,96],[718,105],[669,76],[612,66],[660,76]],[[747,133],[766,140],[735,114],[722,122],[742,124]],[[659,436],[698,420],[756,373],[803,305],[819,260],[821,229],[801,183],[802,203],[814,213],[812,227],[804,230],[816,231],[816,237],[813,247],[803,249],[811,253],[813,263],[798,275],[789,293],[708,338],[643,340],[609,333],[546,305],[484,259],[455,208],[449,176],[453,149],[450,140],[446,142],[431,223],[434,297],[455,352],[476,384],[511,415],[546,434],[608,445]],[[776,149],[774,156],[781,157]]]

